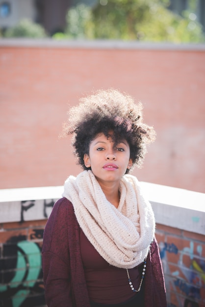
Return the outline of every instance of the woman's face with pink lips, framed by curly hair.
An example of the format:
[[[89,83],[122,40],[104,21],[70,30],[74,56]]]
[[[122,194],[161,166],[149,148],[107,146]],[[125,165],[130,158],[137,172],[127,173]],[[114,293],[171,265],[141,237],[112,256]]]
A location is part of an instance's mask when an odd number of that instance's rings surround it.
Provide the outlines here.
[[[100,185],[107,182],[119,184],[121,177],[132,166],[128,142],[122,140],[114,147],[111,137],[99,133],[90,143],[89,154],[84,154],[84,164],[91,167]]]

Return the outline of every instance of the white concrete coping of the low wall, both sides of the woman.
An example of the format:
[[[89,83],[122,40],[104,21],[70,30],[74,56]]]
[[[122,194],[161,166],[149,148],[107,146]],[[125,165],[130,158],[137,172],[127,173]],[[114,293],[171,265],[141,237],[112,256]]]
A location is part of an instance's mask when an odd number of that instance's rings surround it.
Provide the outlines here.
[[[141,182],[156,223],[205,234],[205,194]],[[0,190],[0,223],[47,219],[63,186]]]

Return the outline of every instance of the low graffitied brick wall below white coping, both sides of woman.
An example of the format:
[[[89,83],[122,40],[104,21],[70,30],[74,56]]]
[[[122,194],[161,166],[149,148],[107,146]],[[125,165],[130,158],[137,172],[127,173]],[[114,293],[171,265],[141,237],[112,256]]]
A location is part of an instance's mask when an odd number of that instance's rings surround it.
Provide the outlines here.
[[[41,248],[46,220],[0,225],[0,306],[44,306]],[[168,307],[205,306],[204,236],[156,226]]]

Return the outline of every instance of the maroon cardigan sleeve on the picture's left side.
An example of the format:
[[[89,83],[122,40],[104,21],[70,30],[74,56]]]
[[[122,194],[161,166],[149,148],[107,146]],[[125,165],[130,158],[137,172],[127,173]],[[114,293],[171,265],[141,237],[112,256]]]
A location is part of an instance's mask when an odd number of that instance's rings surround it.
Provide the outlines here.
[[[67,218],[66,203],[60,199],[53,206],[43,238],[42,266],[49,307],[73,307]]]

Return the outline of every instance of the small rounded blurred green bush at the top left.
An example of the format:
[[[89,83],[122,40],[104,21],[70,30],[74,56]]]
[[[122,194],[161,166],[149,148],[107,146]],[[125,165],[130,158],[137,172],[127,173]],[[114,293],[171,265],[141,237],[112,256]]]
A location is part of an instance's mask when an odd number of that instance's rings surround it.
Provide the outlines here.
[[[46,37],[45,29],[33,23],[29,19],[22,19],[16,26],[8,28],[2,33],[4,37],[30,37],[30,38],[44,38]]]

